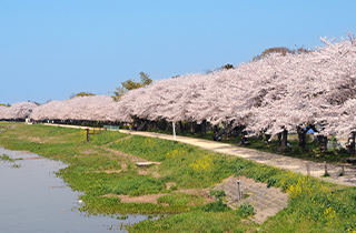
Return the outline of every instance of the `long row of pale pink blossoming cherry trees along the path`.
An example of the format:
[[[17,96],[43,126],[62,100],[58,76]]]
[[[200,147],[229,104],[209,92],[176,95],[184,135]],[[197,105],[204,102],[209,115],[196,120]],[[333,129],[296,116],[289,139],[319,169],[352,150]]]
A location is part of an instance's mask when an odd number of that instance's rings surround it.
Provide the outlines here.
[[[307,53],[274,53],[235,69],[188,74],[110,97],[77,97],[30,104],[34,120],[227,122],[268,135],[318,128],[320,136],[356,130],[356,40],[322,39]],[[0,119],[27,115],[28,103],[0,107]],[[323,140],[320,140],[323,141]],[[284,140],[286,143],[286,140]]]

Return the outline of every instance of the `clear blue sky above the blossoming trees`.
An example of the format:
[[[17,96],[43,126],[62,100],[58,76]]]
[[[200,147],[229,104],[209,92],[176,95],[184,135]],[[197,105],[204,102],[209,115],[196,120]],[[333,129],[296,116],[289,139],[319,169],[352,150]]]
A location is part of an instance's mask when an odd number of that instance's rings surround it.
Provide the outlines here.
[[[0,0],[0,103],[112,94],[356,33],[356,1]]]

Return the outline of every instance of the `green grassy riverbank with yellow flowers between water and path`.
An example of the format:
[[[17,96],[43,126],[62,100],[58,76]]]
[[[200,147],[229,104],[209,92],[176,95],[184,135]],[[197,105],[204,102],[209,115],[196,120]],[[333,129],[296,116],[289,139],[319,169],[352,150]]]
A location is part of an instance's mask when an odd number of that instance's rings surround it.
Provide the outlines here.
[[[217,154],[191,145],[119,132],[0,123],[0,144],[68,163],[59,175],[82,191],[82,211],[96,214],[159,214],[129,226],[132,232],[347,232],[356,231],[356,189]],[[139,168],[135,161],[161,162]],[[237,171],[289,193],[288,207],[258,225],[239,211],[206,203],[198,191]],[[195,190],[196,192],[184,192]],[[154,202],[125,197],[157,195]]]

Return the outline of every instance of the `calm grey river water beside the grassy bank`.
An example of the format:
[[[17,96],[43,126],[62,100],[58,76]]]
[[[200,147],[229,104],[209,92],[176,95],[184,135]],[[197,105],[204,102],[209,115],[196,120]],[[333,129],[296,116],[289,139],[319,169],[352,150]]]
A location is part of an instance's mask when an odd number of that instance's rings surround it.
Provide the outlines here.
[[[121,225],[147,219],[86,216],[77,210],[79,193],[55,174],[66,164],[0,148],[3,154],[16,161],[0,161],[0,232],[126,232]]]

